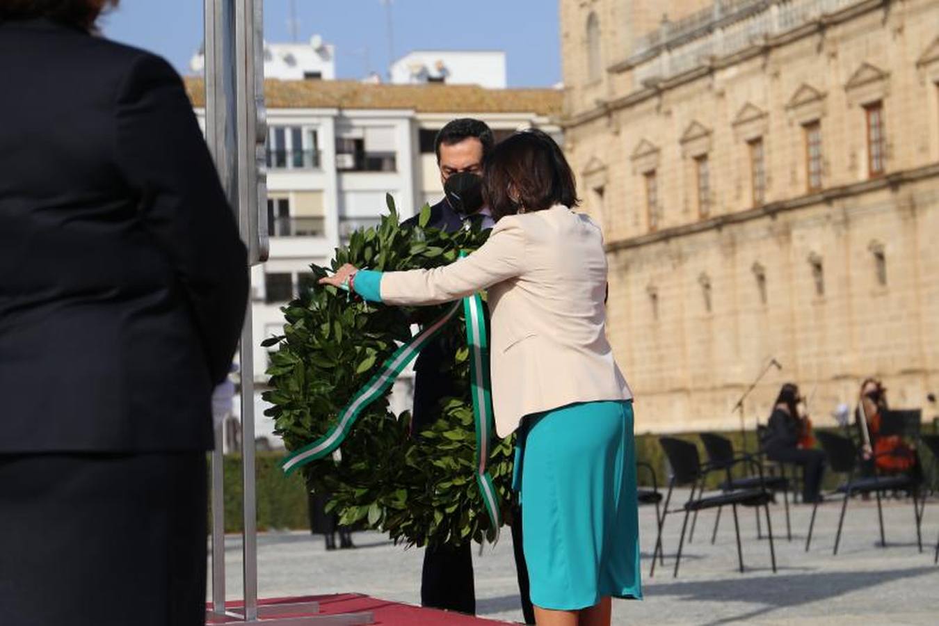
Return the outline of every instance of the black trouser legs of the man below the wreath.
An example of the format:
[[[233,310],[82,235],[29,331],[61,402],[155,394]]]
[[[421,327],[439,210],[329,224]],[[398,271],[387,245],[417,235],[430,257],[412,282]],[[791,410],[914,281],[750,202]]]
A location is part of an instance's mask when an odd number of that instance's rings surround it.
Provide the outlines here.
[[[534,623],[534,609],[529,594],[528,566],[522,552],[522,518],[518,511],[512,523],[512,544],[516,557],[518,593],[526,624]],[[443,545],[427,548],[423,553],[421,605],[476,613],[476,587],[472,572],[472,543],[459,547]]]

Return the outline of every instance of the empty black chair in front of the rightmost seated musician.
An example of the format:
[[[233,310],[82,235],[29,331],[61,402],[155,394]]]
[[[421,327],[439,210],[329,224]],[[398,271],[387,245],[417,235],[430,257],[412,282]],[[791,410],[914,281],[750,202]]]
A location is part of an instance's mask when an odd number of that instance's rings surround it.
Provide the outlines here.
[[[846,474],[847,479],[835,490],[835,493],[843,493],[844,501],[841,504],[841,516],[838,521],[838,534],[835,535],[835,549],[832,554],[838,554],[838,546],[841,541],[841,527],[844,526],[844,513],[848,509],[848,500],[854,494],[870,494],[877,496],[877,518],[880,522],[881,545],[886,546],[884,534],[884,509],[881,505],[881,494],[886,491],[908,490],[913,493],[913,513],[916,519],[916,542],[919,545],[919,551],[923,551],[923,540],[920,534],[920,512],[917,504],[919,493],[919,482],[912,476],[868,476],[854,478],[858,471],[860,455],[858,454],[854,441],[849,437],[835,435],[834,433],[817,432],[815,434],[822,444],[825,457],[828,461],[828,469],[839,474]],[[818,511],[818,502],[812,507],[811,521],[808,523],[808,537],[806,538],[806,552],[812,542],[812,528],[815,526],[815,513]]]

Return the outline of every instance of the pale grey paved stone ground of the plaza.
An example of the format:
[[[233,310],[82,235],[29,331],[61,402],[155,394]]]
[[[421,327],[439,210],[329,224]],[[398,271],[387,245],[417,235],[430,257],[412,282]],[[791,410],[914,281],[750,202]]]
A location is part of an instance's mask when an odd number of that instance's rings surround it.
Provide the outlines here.
[[[730,511],[722,515],[717,542],[710,544],[714,511],[702,512],[694,542],[685,546],[678,578],[671,569],[681,516],[666,522],[666,567],[648,577],[655,541],[654,509],[640,511],[644,602],[616,601],[615,624],[936,624],[939,623],[939,565],[932,563],[939,534],[939,500],[927,504],[924,552],[916,549],[909,500],[885,502],[888,547],[878,545],[873,501],[848,507],[839,555],[832,556],[839,502],[819,509],[811,551],[804,552],[811,508],[793,508],[793,541],[785,539],[781,504],[771,508],[778,572],[772,573],[769,543],[756,538],[752,511],[741,511],[746,572],[737,571]],[[419,603],[423,551],[394,546],[377,533],[358,533],[356,550],[327,553],[322,538],[306,533],[268,533],[259,538],[262,597],[359,591]],[[521,619],[512,544],[503,533],[495,548],[474,550],[477,611],[486,618]],[[239,597],[240,539],[227,543],[228,596]]]

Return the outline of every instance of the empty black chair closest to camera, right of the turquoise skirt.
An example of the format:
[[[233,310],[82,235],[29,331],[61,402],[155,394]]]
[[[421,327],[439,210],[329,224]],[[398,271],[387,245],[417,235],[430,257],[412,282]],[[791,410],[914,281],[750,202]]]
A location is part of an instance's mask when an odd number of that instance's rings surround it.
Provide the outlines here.
[[[671,466],[671,478],[669,481],[669,491],[665,496],[665,506],[662,508],[662,517],[658,524],[658,536],[655,539],[655,551],[652,556],[652,569],[650,576],[655,573],[655,559],[662,551],[662,529],[665,527],[665,518],[670,512],[685,511],[685,519],[682,522],[682,536],[678,542],[678,553],[675,556],[675,571],[673,576],[678,576],[678,566],[682,562],[682,548],[685,546],[685,530],[688,527],[688,516],[695,511],[703,509],[714,509],[716,507],[730,506],[733,510],[733,527],[737,536],[737,559],[740,563],[740,572],[744,571],[744,553],[740,544],[740,523],[737,518],[737,505],[763,507],[766,512],[766,530],[769,535],[769,553],[773,563],[773,572],[776,572],[776,548],[773,544],[773,525],[769,518],[769,502],[773,499],[773,494],[766,489],[765,484],[760,483],[759,487],[752,489],[742,489],[740,491],[729,491],[716,496],[704,496],[704,479],[707,475],[718,469],[730,472],[730,466],[717,468],[711,464],[701,464],[698,454],[698,447],[693,443],[676,439],[674,437],[661,437],[659,443],[665,450],[665,455],[669,459]],[[750,463],[746,457],[738,457],[734,460],[737,463]],[[762,478],[762,467],[756,466]],[[691,485],[691,493],[681,509],[669,511],[671,493],[675,486]]]

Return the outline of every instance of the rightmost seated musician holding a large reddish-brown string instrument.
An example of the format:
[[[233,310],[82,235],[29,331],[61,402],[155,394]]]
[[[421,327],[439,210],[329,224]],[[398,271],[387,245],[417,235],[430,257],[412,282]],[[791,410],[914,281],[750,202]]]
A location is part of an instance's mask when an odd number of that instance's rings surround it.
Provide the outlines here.
[[[861,442],[865,473],[874,469],[887,474],[919,471],[916,448],[900,435],[882,435],[881,426],[887,411],[886,389],[879,380],[868,378],[861,384],[860,398],[854,410],[854,426]]]

